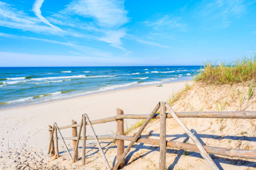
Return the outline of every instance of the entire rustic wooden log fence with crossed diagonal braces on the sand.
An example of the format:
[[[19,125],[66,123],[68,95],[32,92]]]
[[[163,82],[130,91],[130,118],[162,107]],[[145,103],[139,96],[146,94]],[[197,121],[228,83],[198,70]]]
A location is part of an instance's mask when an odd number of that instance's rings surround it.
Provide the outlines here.
[[[156,112],[160,108],[160,114],[156,114]],[[166,113],[166,108],[169,112]],[[100,143],[98,140],[106,140],[113,139],[117,140],[117,159],[112,170],[122,169],[124,167],[124,159],[125,156],[129,153],[134,143],[146,143],[150,145],[159,145],[160,146],[160,155],[159,155],[159,170],[165,170],[166,167],[166,147],[168,148],[177,148],[183,150],[189,150],[194,152],[199,152],[202,157],[207,161],[210,167],[213,170],[219,170],[217,165],[215,165],[214,161],[211,159],[209,154],[215,155],[223,155],[229,157],[238,157],[238,158],[249,158],[256,159],[256,151],[254,150],[239,150],[232,148],[220,148],[220,147],[212,147],[202,145],[199,140],[195,137],[194,134],[187,129],[184,123],[179,119],[179,117],[200,117],[200,118],[241,118],[241,119],[255,119],[256,112],[255,111],[236,111],[236,112],[174,112],[172,107],[166,102],[157,103],[154,110],[149,115],[124,115],[123,110],[117,108],[117,115],[113,117],[107,117],[99,120],[89,120],[87,114],[82,115],[82,119],[80,124],[72,120],[72,125],[67,125],[63,127],[58,127],[56,122],[54,122],[53,127],[49,125],[50,132],[50,142],[49,142],[49,150],[48,154],[51,153],[51,156],[54,158],[59,157],[59,148],[58,148],[58,140],[62,140],[64,142],[67,153],[69,154],[72,163],[78,160],[78,145],[79,141],[83,142],[83,150],[82,150],[82,165],[85,165],[85,149],[86,149],[86,140],[96,140],[97,146],[100,150],[102,158],[106,164],[108,170],[111,170],[107,158],[105,157],[102,148],[100,147]],[[181,128],[189,135],[189,137],[195,142],[194,144],[189,143],[181,143],[175,141],[166,141],[166,118],[173,118],[177,121],[177,123],[181,126]],[[139,128],[138,132],[135,136],[127,136],[124,135],[124,119],[146,119],[143,125]],[[160,139],[149,139],[140,137],[143,129],[146,127],[148,122],[151,119],[160,119]],[[93,124],[105,123],[105,122],[117,122],[117,133],[111,135],[97,135],[92,127]],[[93,136],[86,136],[86,125],[92,129]],[[79,132],[77,133],[77,127],[79,127]],[[62,137],[60,130],[72,128],[72,137]],[[83,130],[83,134],[81,136],[81,132]],[[57,135],[57,131],[59,132],[60,137]],[[55,132],[55,137],[54,137]],[[54,147],[54,140],[55,146]],[[73,140],[73,157],[69,153],[67,145],[64,140]],[[131,141],[126,150],[124,150],[124,140]],[[56,150],[56,154],[55,154]]]

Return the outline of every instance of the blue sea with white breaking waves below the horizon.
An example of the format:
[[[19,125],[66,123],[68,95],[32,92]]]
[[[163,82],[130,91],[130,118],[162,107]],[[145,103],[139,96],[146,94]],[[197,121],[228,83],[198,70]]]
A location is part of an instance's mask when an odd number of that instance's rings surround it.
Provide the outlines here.
[[[0,109],[120,88],[191,80],[200,68],[0,67]]]

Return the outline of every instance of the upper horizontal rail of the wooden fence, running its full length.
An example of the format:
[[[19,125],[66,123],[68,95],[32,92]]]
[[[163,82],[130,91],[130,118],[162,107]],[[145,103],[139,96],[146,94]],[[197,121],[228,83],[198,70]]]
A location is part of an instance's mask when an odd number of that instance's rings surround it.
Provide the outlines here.
[[[198,117],[198,118],[241,118],[241,119],[256,119],[256,111],[233,111],[233,112],[176,112],[178,117]],[[116,120],[121,119],[146,119],[149,116],[149,114],[145,115],[133,115],[133,114],[127,114],[127,115],[117,115],[113,117],[107,117],[103,119],[98,120],[92,120],[90,121],[92,125],[99,124],[99,123],[106,123],[106,122],[113,122]],[[153,119],[159,119],[160,115],[155,114]],[[166,113],[166,118],[172,118],[172,115],[170,113]],[[86,125],[89,125],[88,122],[86,122]],[[73,125],[67,125],[60,127],[61,129],[67,129],[67,128],[74,128],[79,127],[80,124],[73,124]],[[49,128],[48,130],[52,130],[52,128]]]

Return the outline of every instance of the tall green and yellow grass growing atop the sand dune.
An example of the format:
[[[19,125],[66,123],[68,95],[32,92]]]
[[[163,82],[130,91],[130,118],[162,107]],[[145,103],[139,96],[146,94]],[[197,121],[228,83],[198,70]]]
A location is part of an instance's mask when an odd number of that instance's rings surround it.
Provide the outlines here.
[[[225,62],[216,65],[206,62],[204,69],[194,76],[195,82],[207,84],[233,84],[256,80],[256,53],[251,58],[242,58],[226,64]]]

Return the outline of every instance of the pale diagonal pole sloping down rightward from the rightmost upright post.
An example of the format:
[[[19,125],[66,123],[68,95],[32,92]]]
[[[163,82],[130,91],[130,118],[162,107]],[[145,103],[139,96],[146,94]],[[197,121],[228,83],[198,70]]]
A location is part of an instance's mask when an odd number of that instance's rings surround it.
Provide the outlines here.
[[[200,153],[202,157],[207,161],[207,163],[210,165],[210,167],[213,170],[219,170],[218,166],[215,164],[215,162],[212,160],[210,155],[206,152],[205,148],[202,146],[200,141],[195,137],[195,135],[184,125],[184,123],[179,119],[179,117],[176,115],[174,110],[172,110],[172,107],[169,105],[169,103],[166,103],[167,108],[170,110],[170,113],[172,114],[172,117],[176,122],[179,124],[179,126],[189,135],[189,137],[195,142],[197,145],[197,148],[200,150]]]

